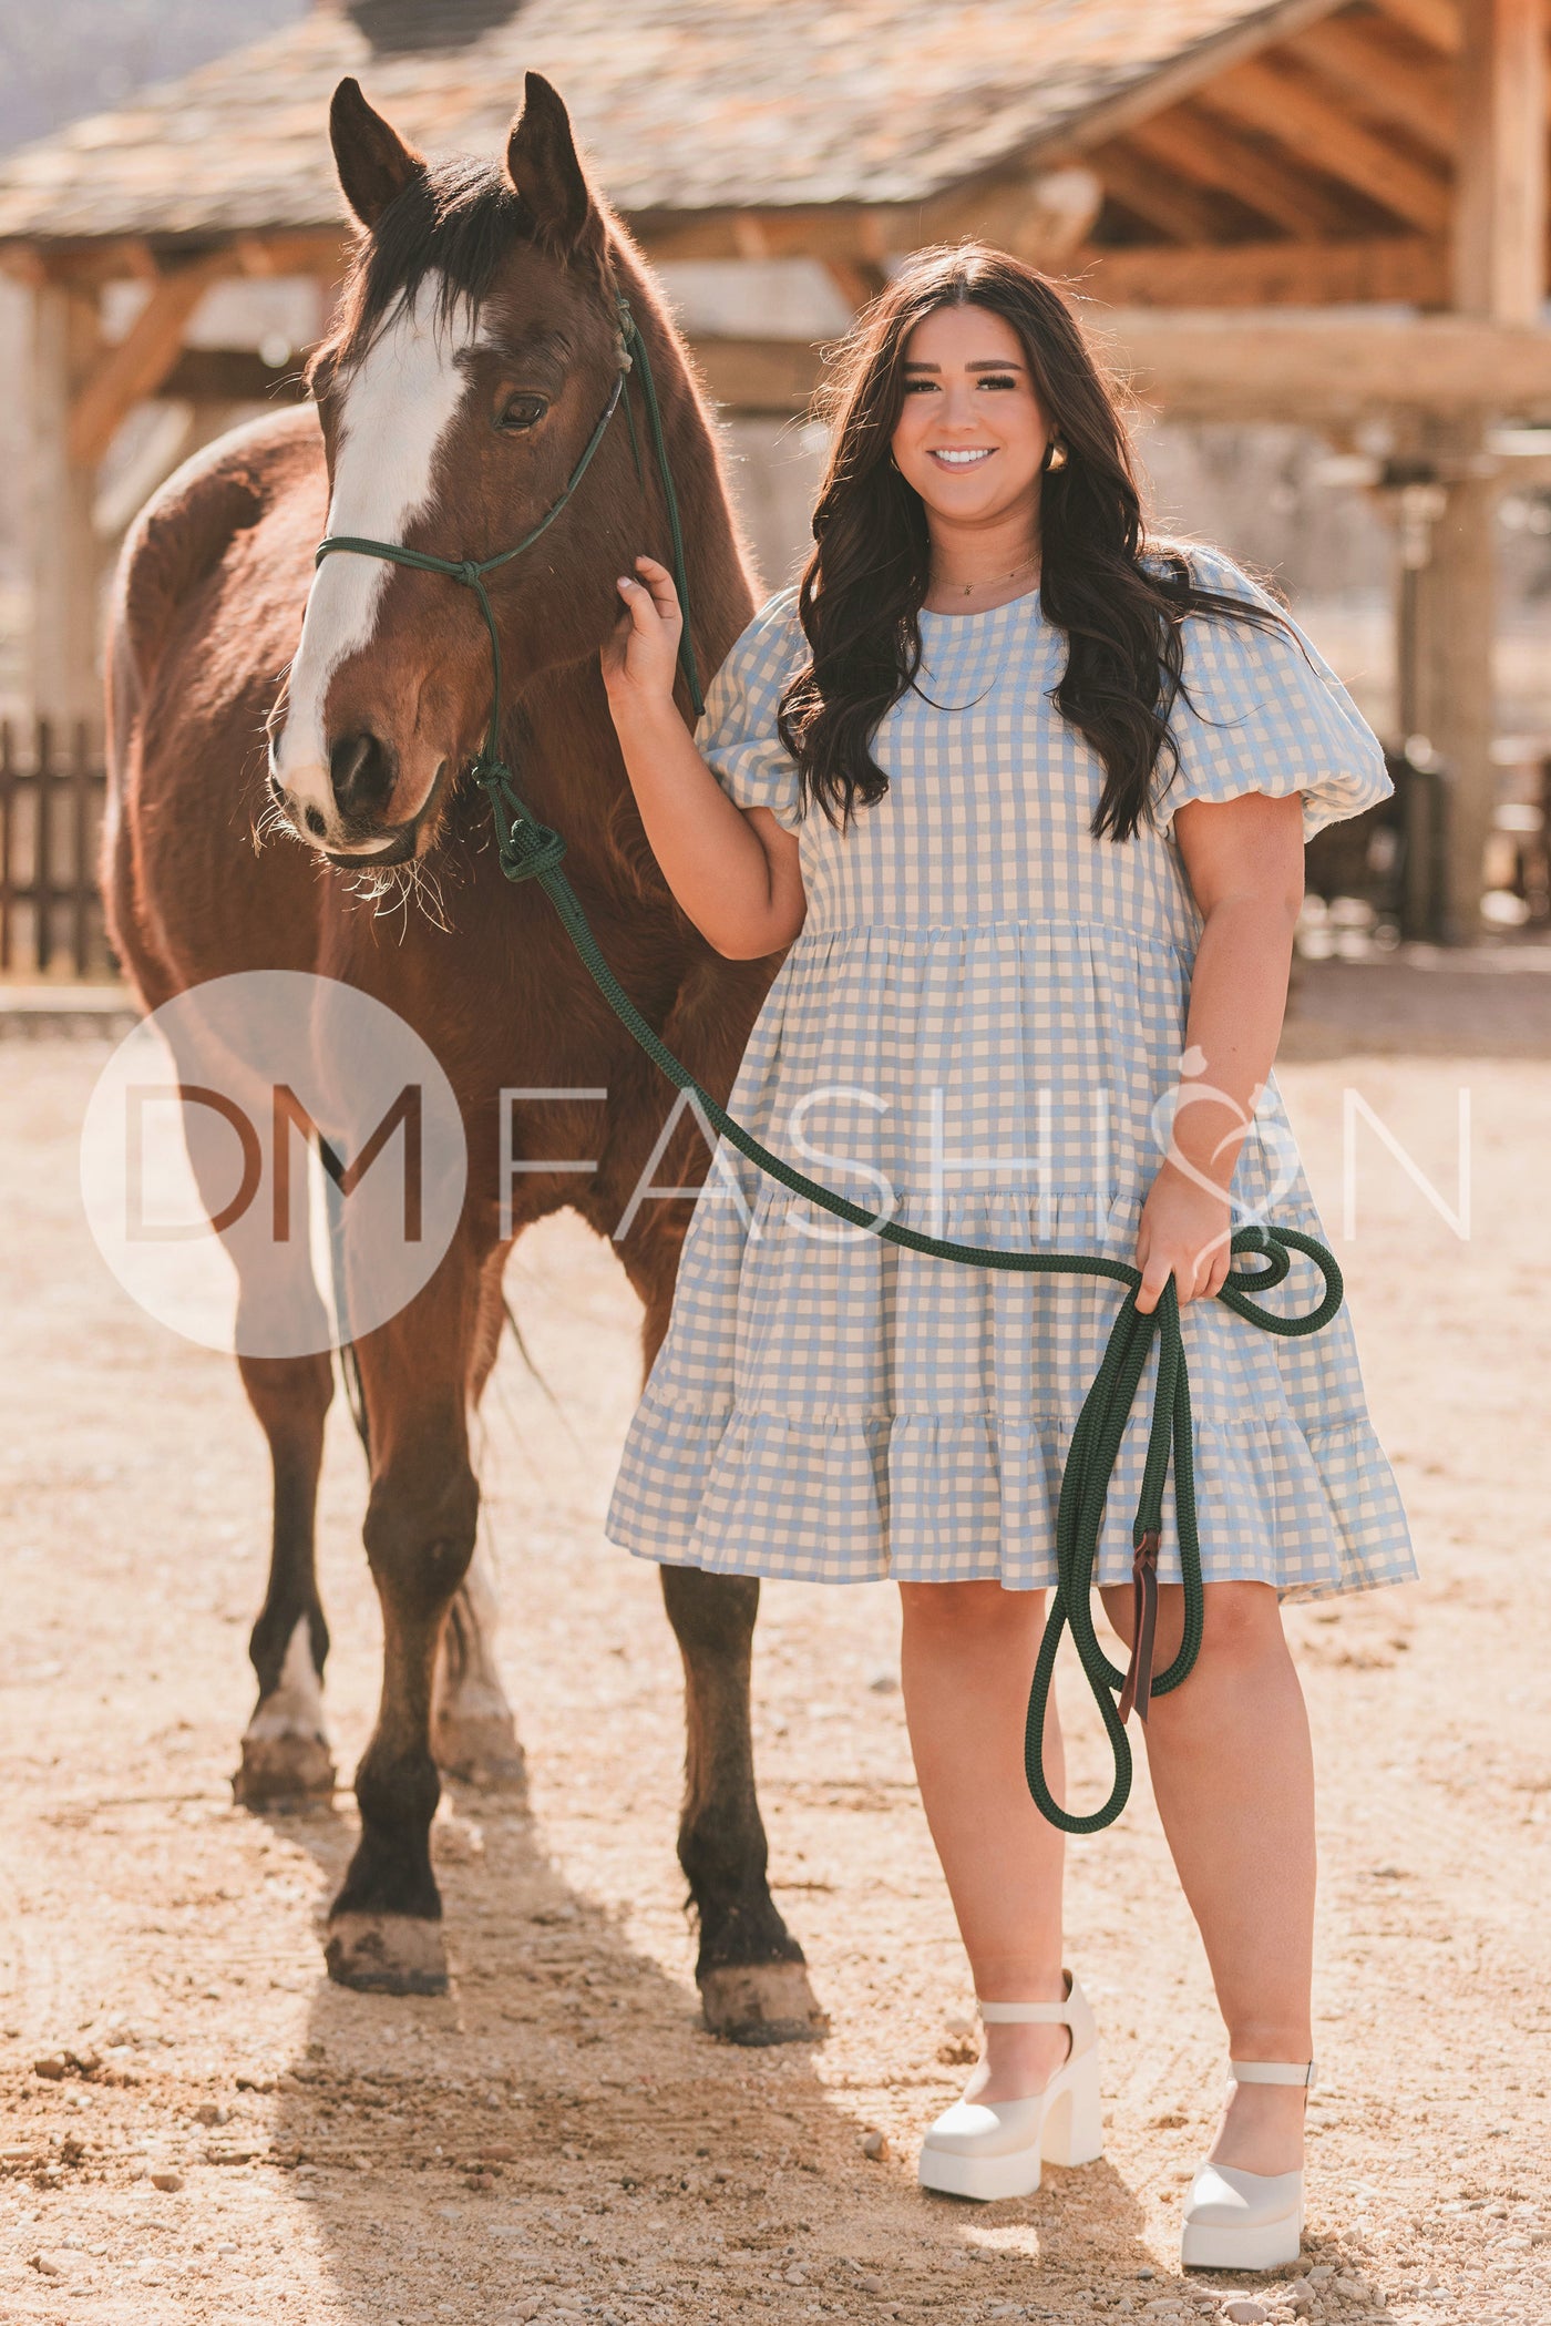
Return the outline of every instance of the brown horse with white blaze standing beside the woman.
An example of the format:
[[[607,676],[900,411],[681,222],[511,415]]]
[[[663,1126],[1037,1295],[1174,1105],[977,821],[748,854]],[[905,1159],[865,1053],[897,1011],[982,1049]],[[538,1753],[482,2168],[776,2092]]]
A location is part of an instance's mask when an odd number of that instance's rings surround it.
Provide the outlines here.
[[[335,1979],[426,1991],[446,1975],[430,1868],[437,1763],[484,1775],[516,1763],[488,1598],[470,1568],[470,1412],[495,1361],[502,1265],[512,1240],[563,1205],[598,1235],[616,1235],[632,1207],[616,1249],[651,1365],[688,1203],[632,1205],[672,1093],[586,982],[546,900],[507,886],[484,800],[460,784],[491,705],[472,593],[360,556],[333,556],[314,577],[314,547],[346,533],[488,558],[521,540],[563,493],[619,379],[623,291],[663,398],[705,668],[753,595],[684,349],[579,167],[556,91],[528,77],[500,167],[428,165],[353,81],[335,93],[330,133],[363,235],[335,335],[312,365],[316,409],[216,444],[126,544],[105,886],[114,942],[151,1007],[235,970],[342,979],[430,1044],[458,1098],[470,1168],[453,1242],[409,1307],[358,1342],[365,1549],[386,1644],[356,1775],[360,1847],[328,1938]],[[651,463],[632,463],[621,412],[539,549],[491,579],[502,747],[535,814],[567,835],[570,879],[626,986],[726,1100],[774,963],[712,954],[635,814],[598,649],[616,619],[614,577],[642,549],[665,554],[667,514]],[[393,884],[405,909],[384,923]],[[428,893],[437,912],[419,909]],[[528,1110],[519,1128],[533,1128],[539,1165],[595,1156],[591,1175],[556,1165],[500,1186],[498,1110],[512,1089],[579,1093]],[[705,1168],[684,1119],[658,1175],[693,1186]],[[244,1279],[249,1298],[267,1293]],[[312,1282],[302,1298],[316,1300]],[[240,1363],[274,1463],[270,1589],[251,1642],[258,1710],[237,1777],[240,1796],[260,1803],[333,1789],[314,1572],[333,1375],[326,1349]],[[753,1793],[758,1584],[663,1568],[663,1596],[686,1675],[679,1858],[707,2024],[742,2040],[809,2033],[819,2019],[802,1949],[770,1898]]]

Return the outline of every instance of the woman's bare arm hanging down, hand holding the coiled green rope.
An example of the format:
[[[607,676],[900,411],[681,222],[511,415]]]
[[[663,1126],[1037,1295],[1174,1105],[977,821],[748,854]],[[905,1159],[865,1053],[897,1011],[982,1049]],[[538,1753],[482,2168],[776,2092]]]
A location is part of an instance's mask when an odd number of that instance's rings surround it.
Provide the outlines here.
[[[1174,1277],[1179,1303],[1221,1291],[1230,1265],[1228,1184],[1281,1040],[1302,905],[1302,793],[1184,800],[1174,837],[1205,928],[1191,979],[1186,1068],[1170,1154],[1153,1179],[1137,1258],[1137,1307]]]

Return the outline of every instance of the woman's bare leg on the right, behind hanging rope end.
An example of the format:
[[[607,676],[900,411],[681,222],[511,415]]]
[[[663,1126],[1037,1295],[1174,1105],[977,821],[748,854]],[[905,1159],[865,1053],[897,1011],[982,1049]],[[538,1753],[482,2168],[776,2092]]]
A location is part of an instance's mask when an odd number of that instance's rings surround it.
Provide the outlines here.
[[[1130,1584],[1105,1591],[1130,1644]],[[1172,1661],[1184,1591],[1158,1593],[1156,1670]],[[1207,1584],[1191,1677],[1153,1696],[1146,1761],[1163,1831],[1207,1945],[1230,2059],[1311,2056],[1314,1756],[1302,1689],[1270,1584]],[[1305,2093],[1232,2084],[1214,2163],[1291,2172]]]

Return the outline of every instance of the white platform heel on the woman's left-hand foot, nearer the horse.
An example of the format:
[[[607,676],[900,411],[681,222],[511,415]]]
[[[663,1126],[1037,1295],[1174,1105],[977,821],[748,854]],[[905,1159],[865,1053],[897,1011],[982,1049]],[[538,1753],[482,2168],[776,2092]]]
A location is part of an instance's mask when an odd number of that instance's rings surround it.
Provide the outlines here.
[[[1072,2049],[1044,2091],[1028,2100],[953,2100],[921,2142],[923,2189],[981,2203],[1032,2196],[1042,2163],[1091,2166],[1102,2156],[1098,2028],[1070,1970],[1065,1982],[1065,2003],[979,2005],[986,2026],[1065,2026]]]

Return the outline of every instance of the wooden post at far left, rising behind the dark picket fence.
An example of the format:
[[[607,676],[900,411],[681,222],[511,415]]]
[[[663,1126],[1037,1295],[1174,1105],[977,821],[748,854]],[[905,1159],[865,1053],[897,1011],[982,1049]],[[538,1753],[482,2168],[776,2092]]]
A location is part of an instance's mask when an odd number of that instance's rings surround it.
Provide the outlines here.
[[[100,351],[98,302],[60,284],[33,291],[33,712],[95,719],[100,551],[91,521],[93,472],[70,458],[70,407]]]

